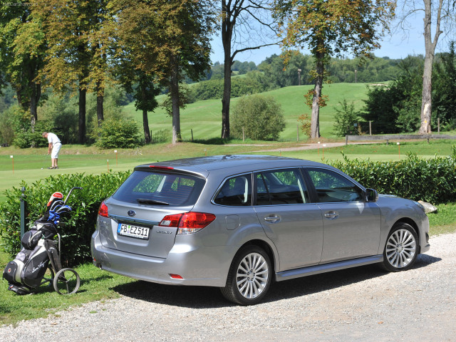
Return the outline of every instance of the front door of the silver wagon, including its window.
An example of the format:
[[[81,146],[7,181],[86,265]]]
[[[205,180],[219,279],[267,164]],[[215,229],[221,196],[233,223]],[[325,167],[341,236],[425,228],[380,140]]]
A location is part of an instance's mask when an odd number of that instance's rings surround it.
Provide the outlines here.
[[[380,209],[347,177],[324,168],[306,168],[323,216],[321,263],[378,253]]]

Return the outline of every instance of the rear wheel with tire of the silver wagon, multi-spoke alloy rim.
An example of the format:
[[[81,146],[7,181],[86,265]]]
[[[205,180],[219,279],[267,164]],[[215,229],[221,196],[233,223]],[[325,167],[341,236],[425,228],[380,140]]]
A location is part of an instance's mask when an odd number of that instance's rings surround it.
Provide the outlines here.
[[[223,296],[237,304],[259,303],[272,281],[271,260],[263,249],[246,246],[234,257],[227,278],[227,285],[220,289]]]

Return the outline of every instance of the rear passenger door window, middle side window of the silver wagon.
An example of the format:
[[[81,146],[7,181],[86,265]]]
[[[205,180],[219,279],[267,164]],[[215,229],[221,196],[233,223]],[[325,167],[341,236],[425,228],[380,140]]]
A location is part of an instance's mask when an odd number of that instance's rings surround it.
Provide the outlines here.
[[[257,205],[306,202],[309,202],[309,193],[299,170],[273,170],[257,173]]]

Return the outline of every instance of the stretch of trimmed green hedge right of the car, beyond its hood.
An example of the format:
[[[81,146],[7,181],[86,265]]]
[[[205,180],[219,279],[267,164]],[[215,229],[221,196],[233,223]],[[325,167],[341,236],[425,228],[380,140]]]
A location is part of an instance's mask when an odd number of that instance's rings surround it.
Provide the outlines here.
[[[331,162],[331,165],[365,187],[382,194],[398,195],[415,201],[432,204],[454,202],[456,199],[456,157],[420,159],[410,154],[398,162],[348,160]]]

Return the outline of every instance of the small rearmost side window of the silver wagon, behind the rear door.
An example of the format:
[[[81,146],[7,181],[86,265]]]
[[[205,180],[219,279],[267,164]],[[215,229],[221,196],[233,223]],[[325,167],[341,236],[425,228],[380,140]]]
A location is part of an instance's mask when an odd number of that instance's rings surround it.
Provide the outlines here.
[[[242,175],[225,180],[214,202],[229,206],[245,206],[252,202],[252,181],[250,175]]]

